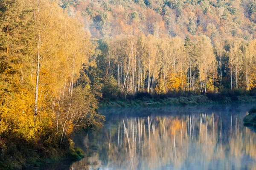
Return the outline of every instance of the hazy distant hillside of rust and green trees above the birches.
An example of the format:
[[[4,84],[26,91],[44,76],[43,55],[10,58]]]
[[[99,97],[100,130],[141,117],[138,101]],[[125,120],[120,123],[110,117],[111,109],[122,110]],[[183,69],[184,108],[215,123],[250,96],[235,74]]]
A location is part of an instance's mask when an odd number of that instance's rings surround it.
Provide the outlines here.
[[[80,0],[60,5],[78,13],[96,38],[154,34],[191,38],[205,34],[251,40],[256,37],[254,0]]]

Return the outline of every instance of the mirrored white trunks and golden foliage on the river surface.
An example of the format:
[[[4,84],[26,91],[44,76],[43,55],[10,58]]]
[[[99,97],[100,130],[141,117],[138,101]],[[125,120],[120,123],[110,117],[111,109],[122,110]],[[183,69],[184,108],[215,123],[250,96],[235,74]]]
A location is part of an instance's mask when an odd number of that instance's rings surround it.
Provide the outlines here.
[[[104,166],[113,169],[166,166],[207,169],[216,162],[230,169],[231,166],[242,168],[243,156],[256,159],[256,134],[241,125],[238,115],[223,118],[212,113],[124,119],[118,128],[104,136],[103,147],[108,150],[108,162]],[[103,161],[99,157],[94,155],[94,160]],[[227,158],[235,158],[236,163],[230,164]]]

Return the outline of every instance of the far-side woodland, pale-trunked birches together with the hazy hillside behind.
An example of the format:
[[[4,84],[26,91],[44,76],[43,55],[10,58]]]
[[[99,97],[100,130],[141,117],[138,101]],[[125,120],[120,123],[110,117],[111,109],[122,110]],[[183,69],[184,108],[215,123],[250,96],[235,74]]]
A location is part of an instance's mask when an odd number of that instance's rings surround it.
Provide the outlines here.
[[[255,1],[60,4],[71,15],[79,14],[90,30],[97,68],[87,74],[102,78],[92,82],[103,83],[106,98],[140,91],[249,91],[256,84]],[[119,92],[111,95],[110,88]]]

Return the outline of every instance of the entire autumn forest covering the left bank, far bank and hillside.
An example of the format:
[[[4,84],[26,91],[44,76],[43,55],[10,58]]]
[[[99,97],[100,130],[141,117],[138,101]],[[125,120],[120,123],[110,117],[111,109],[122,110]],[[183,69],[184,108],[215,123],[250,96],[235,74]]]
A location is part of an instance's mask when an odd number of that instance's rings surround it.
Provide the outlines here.
[[[1,0],[0,167],[78,156],[105,99],[254,95],[255,38],[255,0]]]

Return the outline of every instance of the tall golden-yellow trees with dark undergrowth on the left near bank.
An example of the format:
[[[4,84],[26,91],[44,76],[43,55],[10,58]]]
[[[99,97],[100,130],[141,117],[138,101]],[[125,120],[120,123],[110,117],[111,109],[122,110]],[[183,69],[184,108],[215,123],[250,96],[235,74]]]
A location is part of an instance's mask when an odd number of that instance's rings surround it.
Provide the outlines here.
[[[0,28],[0,169],[73,150],[74,129],[104,120],[79,74],[94,53],[90,33],[51,0],[1,1]]]

